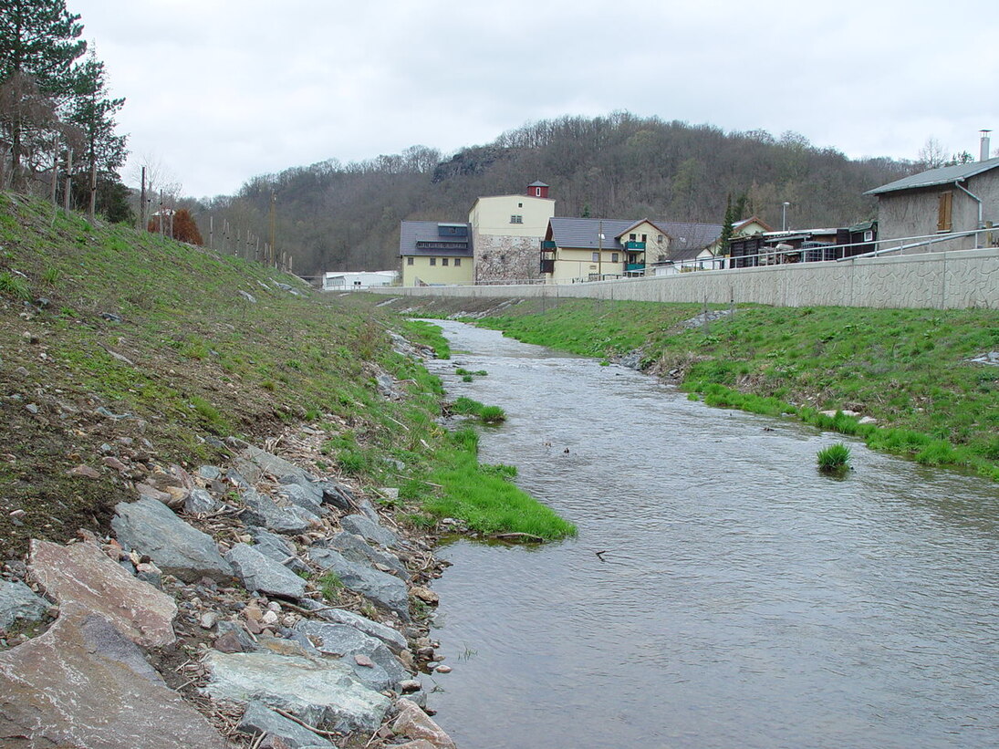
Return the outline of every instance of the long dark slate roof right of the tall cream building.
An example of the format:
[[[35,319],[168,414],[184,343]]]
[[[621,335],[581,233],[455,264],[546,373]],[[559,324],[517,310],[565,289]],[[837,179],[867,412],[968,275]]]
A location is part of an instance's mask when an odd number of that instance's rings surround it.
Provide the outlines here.
[[[604,250],[623,251],[617,237],[627,234],[638,224],[648,221],[662,230],[670,238],[669,260],[695,258],[701,250],[721,236],[720,224],[692,224],[675,221],[653,221],[646,219],[573,219],[555,217],[548,221],[551,240],[561,248],[596,250],[602,244]],[[601,224],[602,222],[602,224]],[[597,234],[602,226],[602,243]],[[625,240],[626,241],[626,240]]]

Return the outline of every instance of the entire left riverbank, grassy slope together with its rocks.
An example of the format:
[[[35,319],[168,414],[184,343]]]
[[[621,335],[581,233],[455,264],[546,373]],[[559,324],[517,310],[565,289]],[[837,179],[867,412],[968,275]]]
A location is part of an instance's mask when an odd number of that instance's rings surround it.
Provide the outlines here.
[[[449,745],[411,678],[435,662],[427,503],[444,489],[426,479],[449,446],[423,335],[242,259],[0,194],[2,743],[120,720],[104,745],[249,746],[280,735],[263,711],[315,745]],[[264,689],[278,672],[305,679],[288,701]],[[27,678],[43,673],[55,683]],[[301,701],[331,679],[347,690],[333,707]],[[83,699],[139,684],[153,691]],[[15,719],[43,705],[51,724]]]

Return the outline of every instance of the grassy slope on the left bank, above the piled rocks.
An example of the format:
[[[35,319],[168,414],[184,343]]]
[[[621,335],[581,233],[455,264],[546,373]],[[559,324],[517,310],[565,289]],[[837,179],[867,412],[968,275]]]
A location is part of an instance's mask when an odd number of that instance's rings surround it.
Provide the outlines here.
[[[106,530],[135,496],[104,467],[109,449],[139,468],[197,464],[224,458],[206,435],[259,440],[309,421],[354,445],[331,440],[331,468],[363,481],[431,470],[443,391],[392,351],[390,323],[357,297],[0,194],[0,558],[30,537]],[[379,393],[380,372],[403,380],[403,400]],[[100,477],[68,475],[81,463]]]

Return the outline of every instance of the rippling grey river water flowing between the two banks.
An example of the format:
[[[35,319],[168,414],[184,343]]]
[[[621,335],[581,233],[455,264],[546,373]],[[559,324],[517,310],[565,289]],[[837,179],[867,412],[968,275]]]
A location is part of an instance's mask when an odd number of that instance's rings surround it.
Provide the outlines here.
[[[449,393],[507,412],[482,459],[579,530],[442,550],[462,749],[999,746],[995,484],[862,443],[830,478],[841,435],[440,325]]]

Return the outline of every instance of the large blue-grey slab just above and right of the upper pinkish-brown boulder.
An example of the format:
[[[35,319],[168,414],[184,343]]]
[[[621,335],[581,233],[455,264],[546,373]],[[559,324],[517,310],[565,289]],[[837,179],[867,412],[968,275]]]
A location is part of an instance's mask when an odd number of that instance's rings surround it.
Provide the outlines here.
[[[233,577],[232,565],[219,554],[212,537],[188,525],[163,502],[149,498],[119,502],[115,512],[111,527],[118,542],[148,554],[163,572],[185,582]]]

